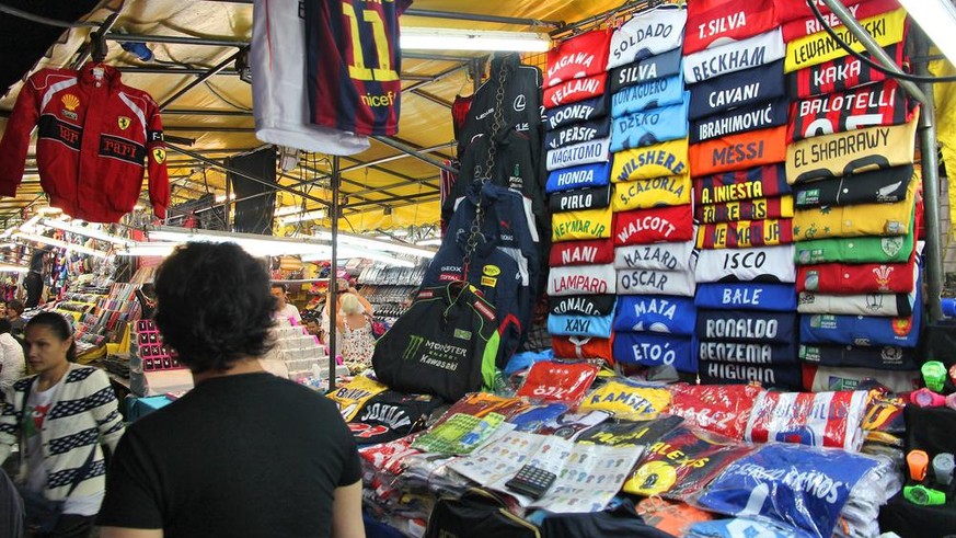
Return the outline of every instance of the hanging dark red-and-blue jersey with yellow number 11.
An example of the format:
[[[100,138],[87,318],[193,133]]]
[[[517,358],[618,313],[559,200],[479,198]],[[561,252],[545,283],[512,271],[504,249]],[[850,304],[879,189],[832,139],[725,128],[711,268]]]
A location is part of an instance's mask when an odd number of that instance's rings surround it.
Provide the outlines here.
[[[412,0],[306,0],[310,121],[357,135],[399,130],[399,15]]]

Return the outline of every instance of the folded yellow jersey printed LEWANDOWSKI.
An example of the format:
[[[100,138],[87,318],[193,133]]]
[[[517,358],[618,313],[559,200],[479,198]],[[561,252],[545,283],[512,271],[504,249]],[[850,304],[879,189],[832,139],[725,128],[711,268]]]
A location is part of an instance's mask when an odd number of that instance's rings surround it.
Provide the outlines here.
[[[873,36],[873,39],[880,46],[892,45],[899,43],[903,38],[903,30],[906,28],[907,12],[900,8],[889,13],[871,16],[860,22],[864,30]],[[840,38],[850,45],[855,51],[864,49],[863,44],[856,38],[846,27],[840,26],[833,28],[833,32]],[[794,39],[786,45],[786,60],[784,61],[784,72],[796,71],[810,66],[816,66],[825,61],[832,60],[846,56],[849,53],[840,46],[830,34],[819,32],[814,35]]]

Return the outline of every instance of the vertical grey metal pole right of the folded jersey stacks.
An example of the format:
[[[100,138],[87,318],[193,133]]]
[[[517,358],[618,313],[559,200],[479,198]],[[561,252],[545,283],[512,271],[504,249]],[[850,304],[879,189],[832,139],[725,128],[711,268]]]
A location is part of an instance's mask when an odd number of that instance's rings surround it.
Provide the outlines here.
[[[921,56],[929,51],[929,41],[917,27],[915,34],[910,34],[915,41],[915,49]],[[930,75],[929,62],[917,62],[918,75]],[[943,247],[942,217],[940,215],[940,157],[936,146],[936,110],[933,102],[933,84],[923,82],[920,84],[928,101],[923,103],[920,112],[920,159],[923,170],[923,199],[926,225],[926,245],[923,251],[923,262],[926,271],[926,295],[923,300],[929,306],[930,322],[935,323],[943,319],[943,306],[940,297],[943,291]]]

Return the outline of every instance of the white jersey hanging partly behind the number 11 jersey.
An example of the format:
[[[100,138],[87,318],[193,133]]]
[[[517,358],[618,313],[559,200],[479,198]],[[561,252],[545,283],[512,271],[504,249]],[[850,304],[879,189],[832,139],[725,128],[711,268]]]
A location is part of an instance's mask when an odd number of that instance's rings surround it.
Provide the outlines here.
[[[255,137],[304,151],[349,156],[367,137],[309,122],[306,25],[300,0],[255,0],[252,13],[252,103]]]

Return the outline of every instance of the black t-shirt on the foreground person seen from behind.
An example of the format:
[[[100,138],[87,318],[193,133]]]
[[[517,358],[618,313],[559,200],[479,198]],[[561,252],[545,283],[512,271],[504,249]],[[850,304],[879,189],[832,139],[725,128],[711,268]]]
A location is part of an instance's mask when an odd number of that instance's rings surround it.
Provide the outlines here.
[[[269,374],[211,378],[126,430],[97,525],[178,537],[325,537],[361,478],[332,401]]]

